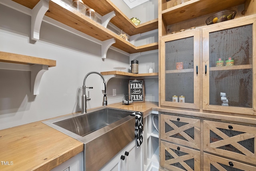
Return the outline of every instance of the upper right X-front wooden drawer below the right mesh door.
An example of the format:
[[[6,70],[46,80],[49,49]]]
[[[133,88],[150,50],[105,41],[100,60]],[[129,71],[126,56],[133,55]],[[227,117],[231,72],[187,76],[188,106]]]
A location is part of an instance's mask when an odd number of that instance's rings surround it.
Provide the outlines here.
[[[204,151],[256,164],[256,127],[204,121]]]

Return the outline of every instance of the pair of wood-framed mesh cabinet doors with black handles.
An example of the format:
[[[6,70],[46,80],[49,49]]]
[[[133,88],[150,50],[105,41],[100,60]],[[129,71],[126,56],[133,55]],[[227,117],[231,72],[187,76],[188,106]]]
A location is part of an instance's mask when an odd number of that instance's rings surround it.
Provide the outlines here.
[[[255,115],[255,24],[251,15],[163,36],[161,106]],[[172,101],[173,95],[184,95],[185,103]]]

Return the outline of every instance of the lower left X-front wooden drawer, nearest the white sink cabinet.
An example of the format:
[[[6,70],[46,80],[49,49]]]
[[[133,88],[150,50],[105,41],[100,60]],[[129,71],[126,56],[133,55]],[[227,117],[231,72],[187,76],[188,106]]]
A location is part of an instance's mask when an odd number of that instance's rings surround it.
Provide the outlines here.
[[[161,141],[160,153],[160,165],[166,169],[200,171],[200,151]]]

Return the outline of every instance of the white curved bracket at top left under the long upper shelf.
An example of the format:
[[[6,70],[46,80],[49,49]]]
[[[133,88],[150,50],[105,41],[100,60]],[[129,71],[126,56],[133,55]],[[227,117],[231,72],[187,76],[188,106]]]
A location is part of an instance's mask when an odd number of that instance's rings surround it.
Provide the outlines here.
[[[32,9],[32,16],[31,16],[31,39],[32,40],[39,40],[40,35],[40,28],[42,24],[42,20],[44,14],[49,9],[49,1],[47,0],[40,0],[38,4]]]

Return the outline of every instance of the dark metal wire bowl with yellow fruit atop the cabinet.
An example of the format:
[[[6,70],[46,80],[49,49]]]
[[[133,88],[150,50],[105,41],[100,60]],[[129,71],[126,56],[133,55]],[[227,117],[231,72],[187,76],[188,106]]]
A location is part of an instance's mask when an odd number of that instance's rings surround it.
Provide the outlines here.
[[[210,24],[215,24],[219,22],[224,22],[227,20],[232,20],[235,18],[235,16],[236,16],[236,11],[225,10],[210,16],[209,18],[207,18],[205,22],[207,25],[210,25]]]

